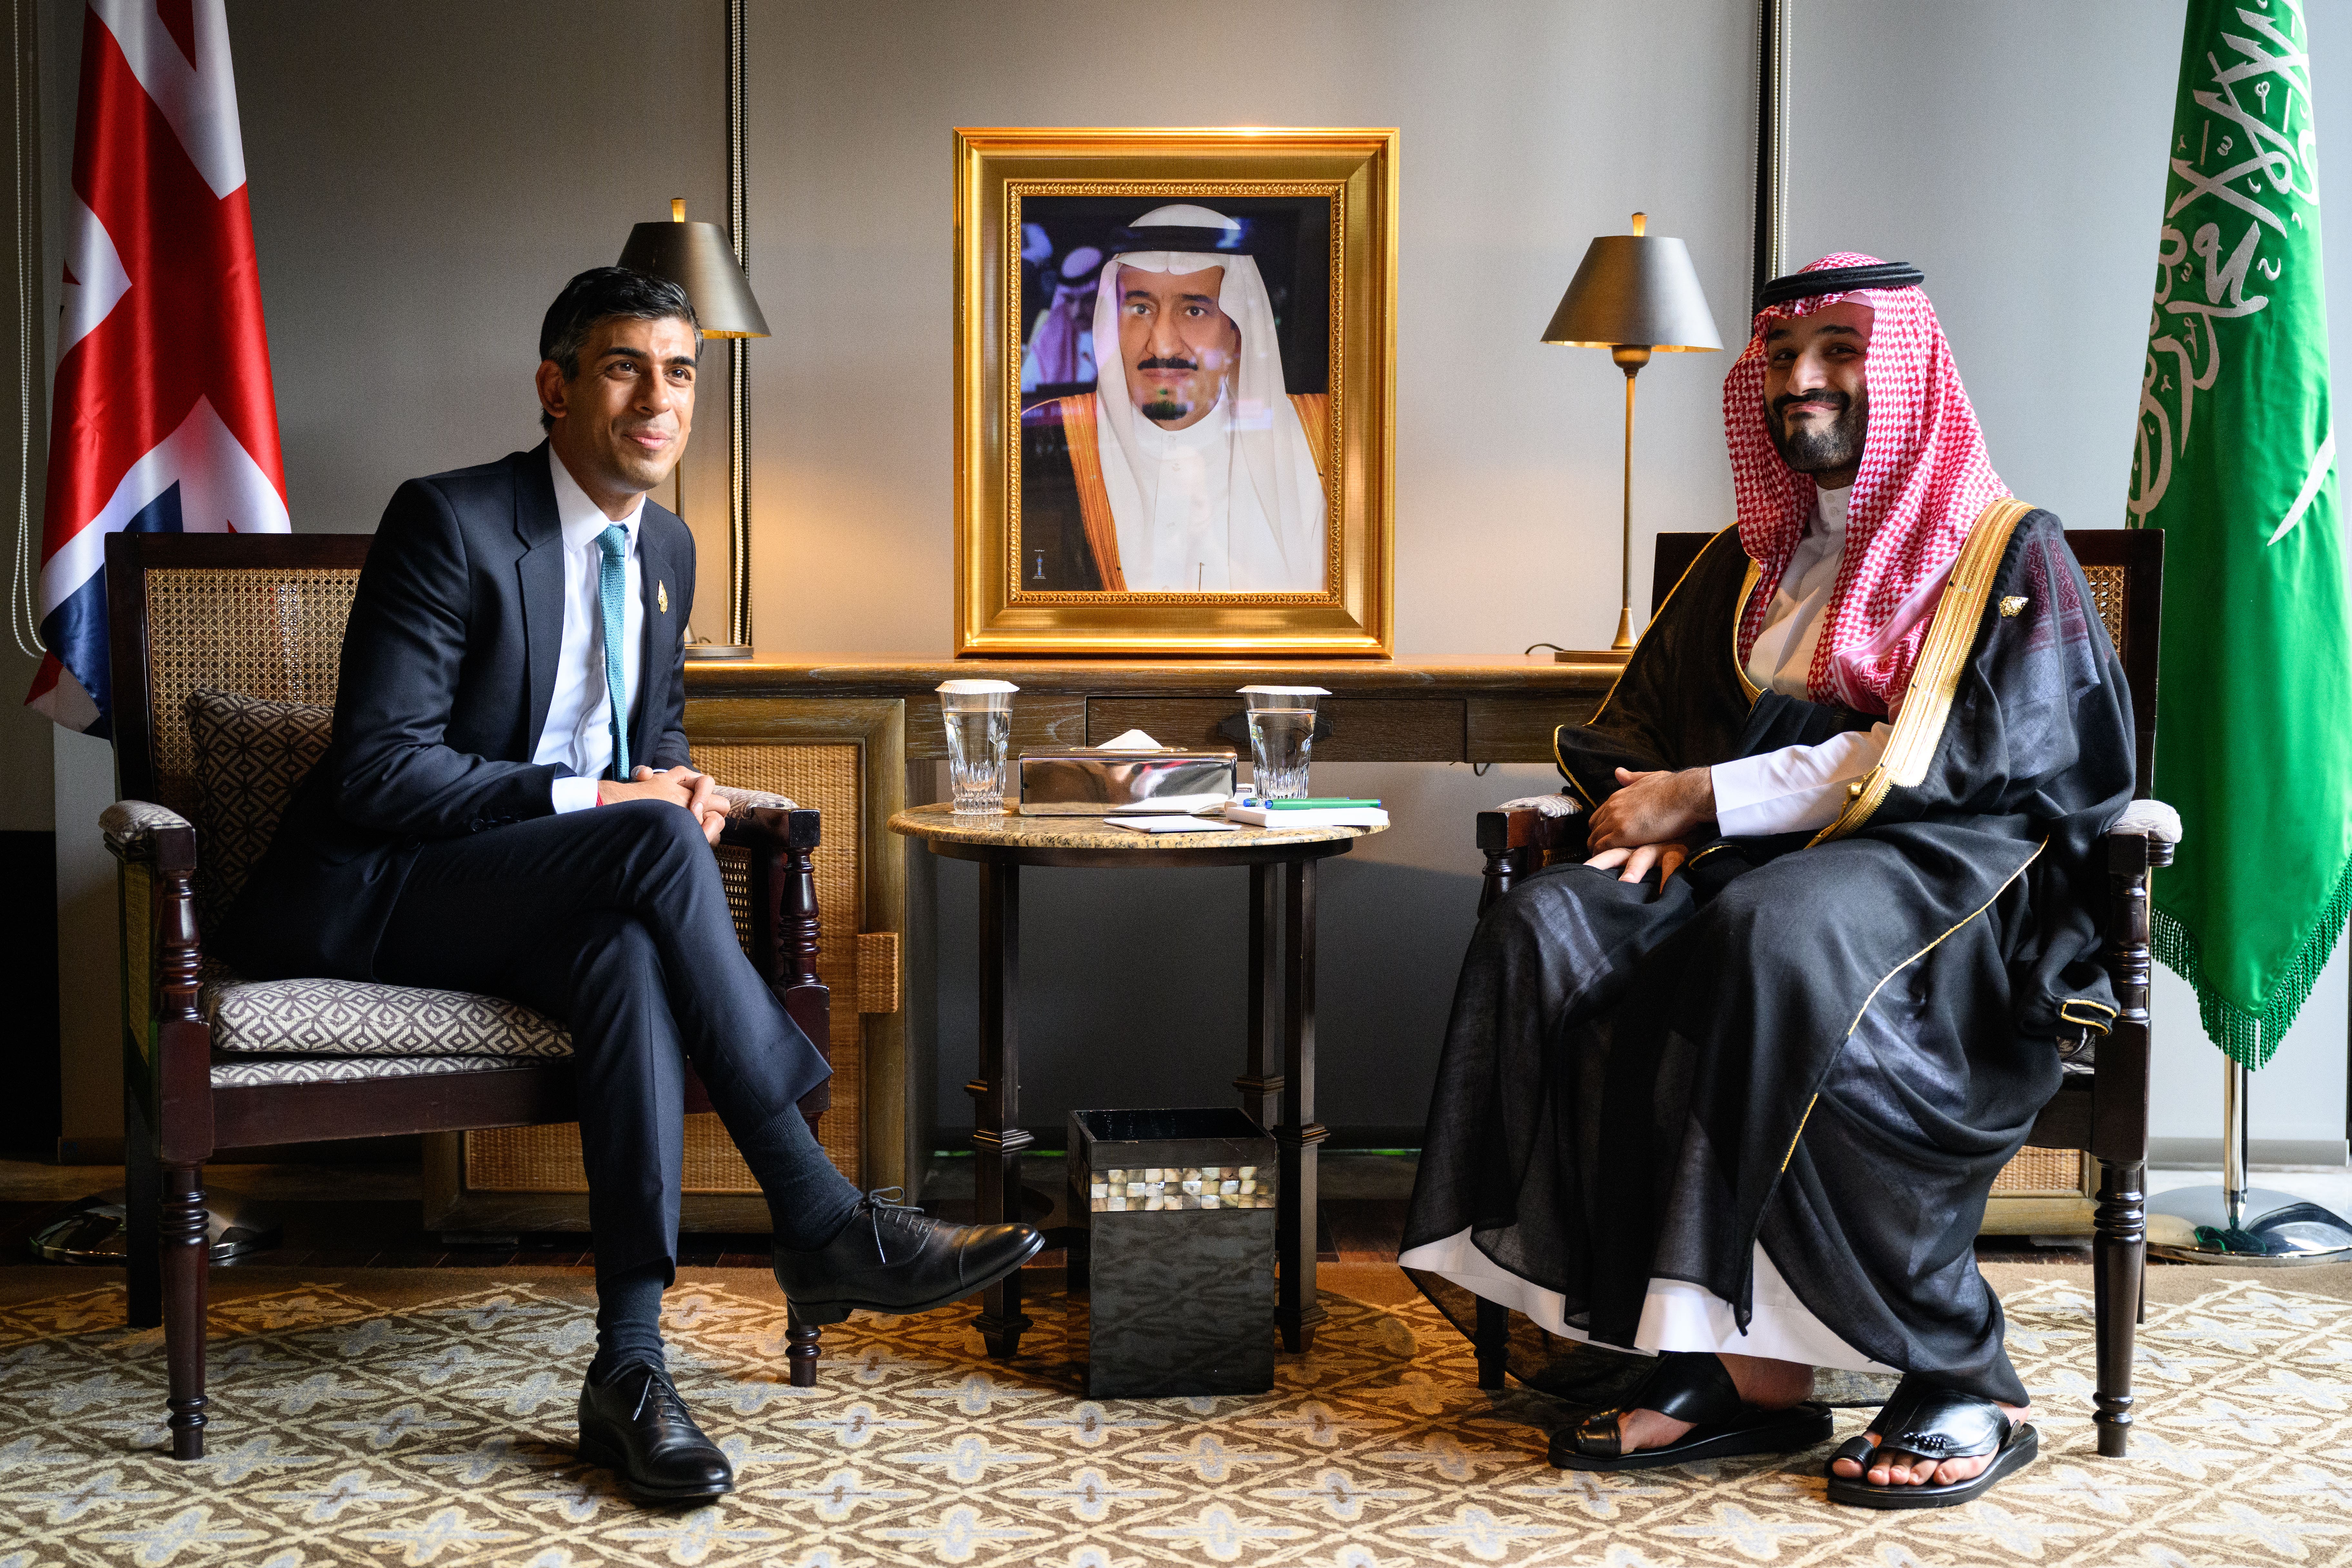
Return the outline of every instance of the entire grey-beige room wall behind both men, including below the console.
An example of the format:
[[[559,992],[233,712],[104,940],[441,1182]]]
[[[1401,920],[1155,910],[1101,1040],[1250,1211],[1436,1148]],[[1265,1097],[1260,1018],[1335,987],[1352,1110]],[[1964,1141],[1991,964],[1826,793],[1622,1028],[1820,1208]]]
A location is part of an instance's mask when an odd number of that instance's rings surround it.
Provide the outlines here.
[[[2352,5],[2312,9],[2333,127],[2328,49]],[[555,287],[614,259],[670,195],[720,214],[720,16],[717,0],[230,0],[299,529],[369,529],[402,477],[536,440],[527,381]],[[2124,487],[2178,16],[2178,0],[1797,5],[1792,261],[1832,242],[1922,261],[1997,463],[2070,520],[2114,515]],[[45,0],[45,24],[54,280],[80,7]],[[2046,26],[2063,38],[2039,40]],[[755,5],[750,252],[776,327],[750,348],[760,642],[948,644],[950,127],[1232,122],[1404,132],[1399,654],[1606,637],[1621,381],[1604,355],[1534,339],[1588,237],[1637,207],[1689,240],[1717,324],[1738,334],[1752,28],[1750,0],[1200,0],[1181,26],[1136,0]],[[1649,534],[1729,515],[1724,364],[1642,376],[1637,583]],[[706,623],[724,576],[722,397],[724,376],[706,376],[687,458]],[[47,771],[40,745],[0,731],[9,766]],[[61,900],[82,922],[68,1131],[89,1133],[113,1126],[115,1093],[111,896],[85,853],[103,771],[101,752],[59,748],[75,867]],[[1322,1117],[1411,1124],[1475,898],[1468,813],[1552,785],[1461,766],[1329,783],[1390,797],[1399,830],[1327,877]],[[971,900],[955,870],[941,877],[950,1117],[969,1060]],[[1030,1119],[1105,1103],[1112,1044],[1138,1063],[1115,1086],[1129,1103],[1221,1095],[1240,997],[1216,976],[1237,961],[1240,893],[1089,877],[1037,877],[1028,898]],[[1171,933],[1207,943],[1200,973],[1148,957]],[[2333,1117],[2336,1135],[2340,997],[2314,1001],[2314,1018],[2333,1013],[2307,1032],[2310,1081],[2333,1079],[2336,1098],[2305,1121]],[[2201,1081],[2194,1039],[2178,1048],[2178,1081]],[[2258,1133],[2284,1098],[2258,1095]],[[2204,1107],[2185,1093],[2159,1133],[2204,1131]]]

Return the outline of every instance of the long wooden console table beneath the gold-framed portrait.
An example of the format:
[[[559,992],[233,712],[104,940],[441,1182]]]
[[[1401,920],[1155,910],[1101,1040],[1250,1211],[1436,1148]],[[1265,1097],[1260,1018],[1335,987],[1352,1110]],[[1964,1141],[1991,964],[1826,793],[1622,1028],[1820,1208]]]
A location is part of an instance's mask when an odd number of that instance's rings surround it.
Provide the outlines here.
[[[1573,663],[1515,654],[1395,661],[760,654],[687,663],[687,736],[699,755],[713,757],[774,755],[793,745],[858,748],[856,820],[840,820],[837,811],[826,818],[828,846],[856,844],[863,867],[856,907],[844,912],[842,926],[828,919],[828,929],[844,929],[856,943],[863,1048],[854,1164],[866,1187],[896,1185],[917,1194],[929,1150],[931,1025],[927,987],[901,987],[898,966],[906,961],[908,867],[927,856],[901,849],[903,842],[884,823],[908,804],[934,799],[929,764],[948,757],[934,693],[938,682],[985,675],[1021,686],[1014,698],[1016,752],[1091,745],[1127,729],[1145,729],[1167,745],[1232,745],[1218,724],[1242,712],[1235,689],[1279,682],[1331,691],[1319,703],[1329,731],[1315,741],[1317,762],[1550,762],[1552,729],[1590,717],[1621,668],[1623,661],[1611,654]],[[1465,872],[1477,867],[1470,830],[1465,820]],[[821,879],[818,900],[828,896]],[[920,966],[920,943],[913,957]],[[868,966],[882,964],[887,976],[868,973]],[[875,997],[887,999],[887,1011]],[[837,1016],[844,1004],[842,980],[835,980]],[[847,1100],[835,1095],[835,1105]],[[826,1140],[833,1145],[835,1133],[828,1131]]]

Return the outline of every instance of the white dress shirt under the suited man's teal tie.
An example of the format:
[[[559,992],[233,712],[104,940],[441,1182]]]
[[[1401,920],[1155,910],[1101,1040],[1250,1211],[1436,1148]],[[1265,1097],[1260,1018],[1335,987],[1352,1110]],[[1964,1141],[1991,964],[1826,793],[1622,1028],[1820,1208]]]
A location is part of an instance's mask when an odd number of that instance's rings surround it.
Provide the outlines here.
[[[597,597],[604,548],[597,545],[597,536],[614,524],[628,531],[628,552],[621,557],[621,696],[635,717],[637,665],[644,663],[637,656],[644,646],[644,569],[637,564],[637,520],[644,517],[644,496],[637,496],[628,517],[607,517],[555,456],[555,447],[548,447],[548,468],[555,473],[555,520],[564,531],[564,639],[555,654],[555,698],[548,703],[548,724],[539,731],[532,762],[572,769],[569,778],[555,780],[555,809],[581,811],[595,804],[595,780],[612,764],[604,604]],[[635,769],[640,759],[628,762]]]

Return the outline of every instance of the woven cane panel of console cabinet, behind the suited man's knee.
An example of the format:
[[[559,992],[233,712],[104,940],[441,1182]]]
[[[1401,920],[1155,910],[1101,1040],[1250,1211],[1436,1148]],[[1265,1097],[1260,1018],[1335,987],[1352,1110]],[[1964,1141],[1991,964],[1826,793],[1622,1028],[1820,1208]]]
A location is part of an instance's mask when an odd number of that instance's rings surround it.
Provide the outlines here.
[[[771,790],[823,813],[826,842],[814,856],[816,867],[816,978],[833,987],[833,1110],[818,1124],[826,1154],[842,1175],[858,1180],[866,1126],[866,1058],[858,1025],[858,889],[863,872],[858,849],[858,748],[856,745],[696,745],[694,766],[722,785]],[[727,884],[727,900],[746,898],[748,872],[739,886]]]

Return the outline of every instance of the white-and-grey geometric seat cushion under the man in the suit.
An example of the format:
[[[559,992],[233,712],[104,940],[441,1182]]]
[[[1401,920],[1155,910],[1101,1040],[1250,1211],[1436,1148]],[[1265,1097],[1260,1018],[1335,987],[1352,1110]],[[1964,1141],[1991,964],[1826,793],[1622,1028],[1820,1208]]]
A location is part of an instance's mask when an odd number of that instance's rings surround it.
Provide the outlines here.
[[[233,1056],[419,1060],[572,1056],[572,1034],[546,1013],[473,992],[365,980],[238,980],[214,971],[202,990],[202,1009],[212,1025],[212,1048]]]

